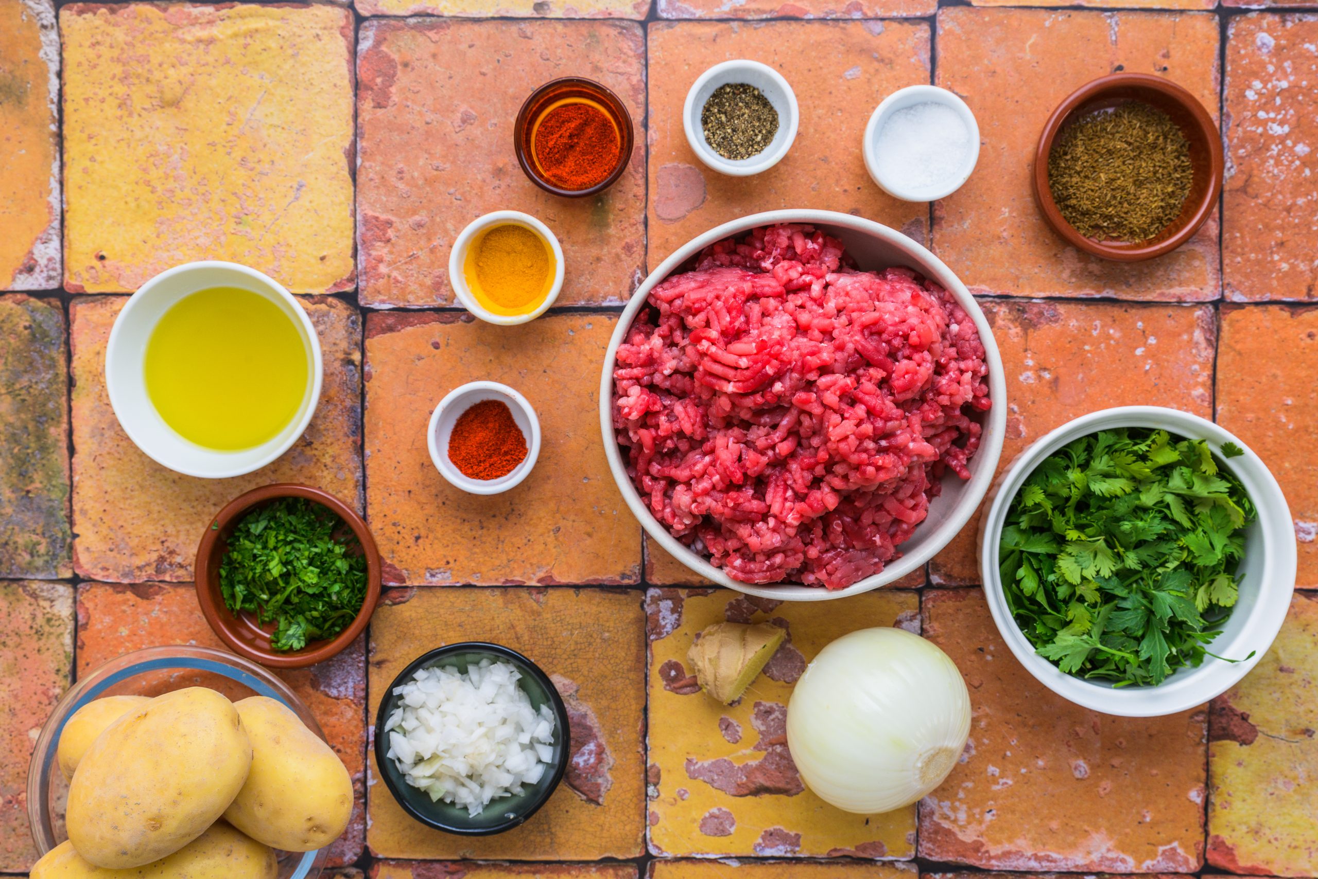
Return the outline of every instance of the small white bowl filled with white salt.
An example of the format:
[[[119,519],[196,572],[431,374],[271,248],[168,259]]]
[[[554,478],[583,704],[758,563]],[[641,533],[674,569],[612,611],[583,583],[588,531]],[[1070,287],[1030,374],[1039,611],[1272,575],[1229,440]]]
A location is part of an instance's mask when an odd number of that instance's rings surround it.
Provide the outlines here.
[[[979,161],[979,125],[966,103],[937,86],[888,95],[865,126],[865,167],[903,201],[944,199]]]

